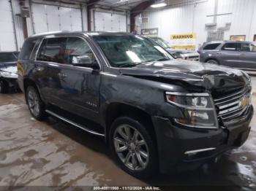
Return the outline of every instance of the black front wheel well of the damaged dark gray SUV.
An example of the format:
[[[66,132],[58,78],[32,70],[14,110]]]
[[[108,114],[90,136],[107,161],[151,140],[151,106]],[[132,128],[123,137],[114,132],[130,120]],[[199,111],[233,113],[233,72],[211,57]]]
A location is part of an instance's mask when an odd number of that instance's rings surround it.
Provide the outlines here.
[[[152,139],[154,139],[154,141],[157,140],[151,116],[147,112],[143,111],[142,109],[138,109],[135,106],[129,106],[127,104],[119,103],[110,104],[106,111],[105,124],[107,136],[113,121],[121,116],[132,117],[135,120],[138,120],[141,123],[143,123],[143,125],[147,128],[148,132],[150,133]]]

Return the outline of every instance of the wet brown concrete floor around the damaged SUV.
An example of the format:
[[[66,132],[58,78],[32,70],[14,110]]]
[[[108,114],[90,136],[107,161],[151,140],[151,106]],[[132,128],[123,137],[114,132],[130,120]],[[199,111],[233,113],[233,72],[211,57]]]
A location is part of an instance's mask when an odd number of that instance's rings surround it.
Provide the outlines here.
[[[256,108],[256,77],[252,82]],[[256,116],[244,146],[227,152],[218,163],[143,182],[118,168],[103,139],[61,121],[34,120],[22,93],[0,95],[0,186],[59,185],[65,190],[69,186],[152,185],[168,186],[168,190],[198,190],[197,186],[205,185],[211,186],[207,190],[216,190],[216,186],[256,190],[255,151]]]

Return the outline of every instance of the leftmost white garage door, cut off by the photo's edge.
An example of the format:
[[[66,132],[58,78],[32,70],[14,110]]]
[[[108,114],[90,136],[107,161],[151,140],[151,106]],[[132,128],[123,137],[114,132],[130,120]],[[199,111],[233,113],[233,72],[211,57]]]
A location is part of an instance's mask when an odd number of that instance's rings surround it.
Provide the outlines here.
[[[0,51],[16,50],[12,9],[8,0],[0,1]]]

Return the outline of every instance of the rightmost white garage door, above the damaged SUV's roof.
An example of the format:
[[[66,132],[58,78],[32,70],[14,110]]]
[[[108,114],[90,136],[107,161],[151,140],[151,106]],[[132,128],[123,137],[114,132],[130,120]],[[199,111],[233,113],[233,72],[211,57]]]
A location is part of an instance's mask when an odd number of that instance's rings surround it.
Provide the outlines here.
[[[127,16],[108,12],[94,12],[95,31],[127,31]]]

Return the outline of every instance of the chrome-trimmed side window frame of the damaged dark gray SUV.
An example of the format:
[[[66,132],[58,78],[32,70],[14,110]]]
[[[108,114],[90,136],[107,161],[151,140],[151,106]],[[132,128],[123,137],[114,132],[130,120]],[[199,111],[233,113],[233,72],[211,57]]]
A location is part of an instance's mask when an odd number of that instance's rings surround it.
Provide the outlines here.
[[[44,37],[42,37],[42,39],[41,39],[41,41],[40,41],[40,43],[39,43],[39,47],[37,48],[37,52],[36,52],[36,54],[35,54],[35,56],[34,56],[34,61],[35,62],[42,62],[42,63],[54,63],[54,64],[57,64],[58,66],[69,66],[69,67],[75,67],[75,68],[79,68],[79,69],[91,69],[91,70],[94,70],[94,69],[92,69],[91,67],[83,67],[83,66],[73,66],[72,64],[64,64],[64,63],[56,63],[56,62],[49,62],[49,61],[38,61],[37,60],[37,55],[38,55],[38,53],[39,53],[39,50],[41,49],[41,47],[42,47],[42,42],[44,42],[44,40],[47,40],[47,39],[56,39],[56,38],[78,38],[78,39],[82,39],[84,42],[86,42],[86,44],[88,44],[88,46],[90,47],[90,49],[91,49],[91,52],[94,54],[94,57],[96,58],[96,60],[97,60],[97,64],[98,64],[98,66],[99,66],[99,71],[102,71],[102,64],[99,62],[100,60],[99,60],[99,58],[97,57],[97,54],[95,53],[95,51],[93,50],[93,48],[91,47],[91,44],[89,44],[89,42],[88,42],[88,40],[87,39],[84,39],[83,37],[81,37],[81,36],[72,36],[72,35],[70,35],[70,36],[50,36],[50,37],[48,37],[48,36],[44,36]],[[66,42],[67,43],[67,42]]]

